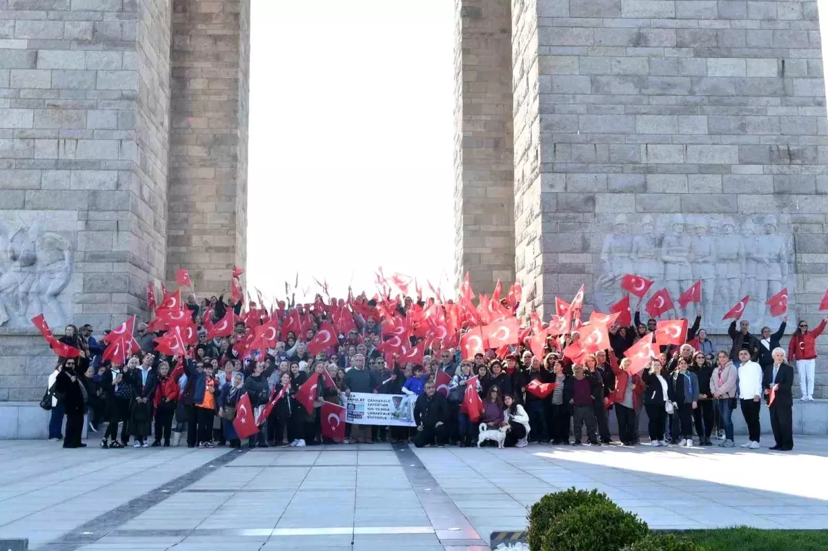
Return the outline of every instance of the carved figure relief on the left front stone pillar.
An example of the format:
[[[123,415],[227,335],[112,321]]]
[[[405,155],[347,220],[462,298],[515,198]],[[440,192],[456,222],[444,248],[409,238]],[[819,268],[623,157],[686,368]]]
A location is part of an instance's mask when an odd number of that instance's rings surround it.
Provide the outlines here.
[[[74,268],[72,246],[62,235],[39,223],[16,230],[0,223],[0,326],[31,326],[31,317],[41,312],[52,325],[63,325],[60,293]]]

